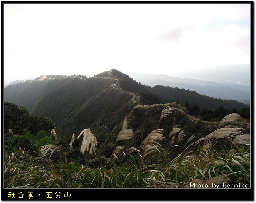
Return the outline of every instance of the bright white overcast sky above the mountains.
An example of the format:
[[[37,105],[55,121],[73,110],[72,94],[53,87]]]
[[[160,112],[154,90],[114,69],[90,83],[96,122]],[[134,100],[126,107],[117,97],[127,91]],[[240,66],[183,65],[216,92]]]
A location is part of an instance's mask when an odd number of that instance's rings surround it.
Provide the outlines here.
[[[250,64],[250,4],[4,4],[4,84]]]

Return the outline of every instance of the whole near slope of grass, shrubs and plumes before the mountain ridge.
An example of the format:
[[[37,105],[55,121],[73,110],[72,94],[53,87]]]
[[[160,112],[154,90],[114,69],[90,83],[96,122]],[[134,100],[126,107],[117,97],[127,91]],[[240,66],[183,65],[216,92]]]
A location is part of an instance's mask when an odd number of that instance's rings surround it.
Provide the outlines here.
[[[250,188],[250,123],[237,113],[208,122],[177,103],[136,105],[110,131],[98,121],[72,135],[4,108],[5,188]]]

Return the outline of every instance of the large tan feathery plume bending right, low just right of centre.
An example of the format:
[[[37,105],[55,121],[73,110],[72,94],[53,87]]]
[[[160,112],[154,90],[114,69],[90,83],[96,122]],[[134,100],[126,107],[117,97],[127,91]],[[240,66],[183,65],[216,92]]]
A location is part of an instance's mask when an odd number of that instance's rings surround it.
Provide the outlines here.
[[[161,144],[157,142],[157,140],[163,139],[163,129],[153,130],[147,138],[143,140],[141,143],[142,155],[145,157],[146,155],[152,153],[153,151],[159,151]],[[160,148],[162,149],[162,148]],[[160,151],[159,151],[160,152]]]

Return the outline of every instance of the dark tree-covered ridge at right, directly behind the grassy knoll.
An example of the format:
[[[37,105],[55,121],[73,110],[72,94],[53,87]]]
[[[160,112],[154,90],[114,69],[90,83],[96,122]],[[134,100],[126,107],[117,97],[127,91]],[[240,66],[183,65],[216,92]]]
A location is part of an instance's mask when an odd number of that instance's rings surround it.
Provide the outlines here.
[[[226,109],[241,110],[242,108],[249,108],[249,105],[246,105],[236,100],[224,100],[216,99],[206,95],[198,94],[196,91],[189,91],[180,88],[173,88],[169,86],[156,85],[153,87],[156,94],[163,99],[164,103],[176,102],[179,100],[181,103],[185,103],[187,100],[190,105],[197,105],[199,108],[206,109],[217,109],[221,105]]]

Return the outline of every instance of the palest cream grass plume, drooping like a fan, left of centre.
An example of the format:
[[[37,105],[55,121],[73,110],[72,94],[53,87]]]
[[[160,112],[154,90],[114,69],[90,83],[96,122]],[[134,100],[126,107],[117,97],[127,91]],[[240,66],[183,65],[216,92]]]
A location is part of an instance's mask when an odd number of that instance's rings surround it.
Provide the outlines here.
[[[81,153],[84,154],[85,151],[89,151],[89,154],[96,154],[96,145],[97,145],[97,139],[95,135],[92,134],[90,129],[83,129],[80,135],[78,135],[77,139],[80,138],[80,136],[83,135],[82,140],[82,146],[81,146]],[[89,147],[91,145],[91,147]],[[90,148],[90,149],[89,149]]]

